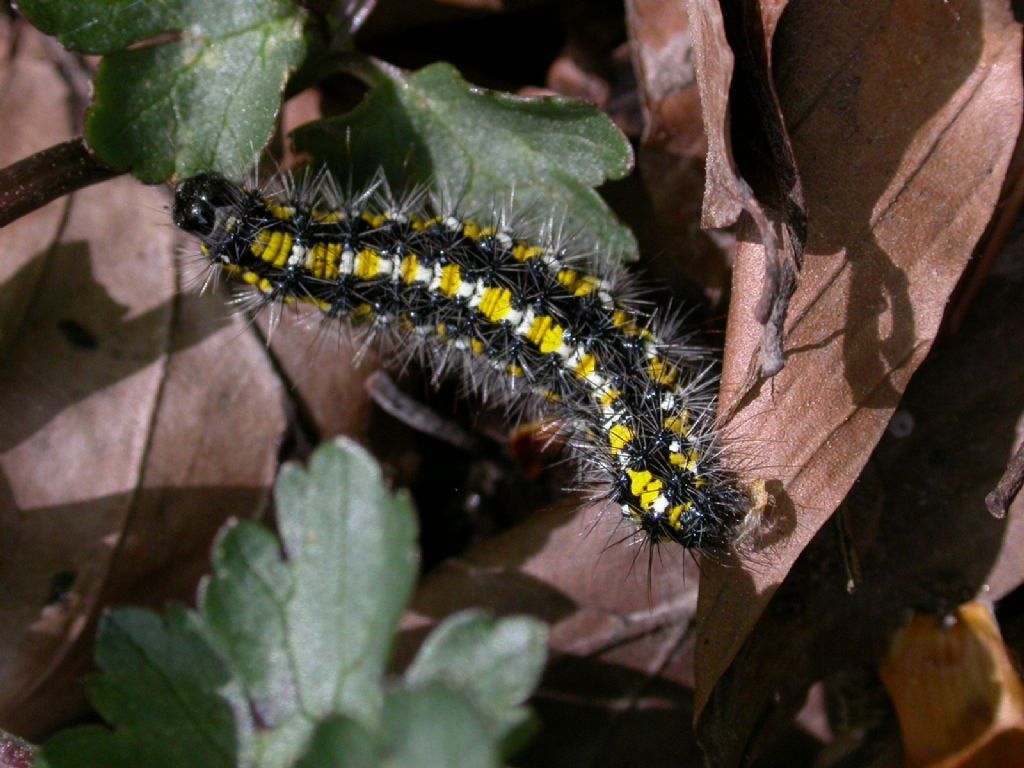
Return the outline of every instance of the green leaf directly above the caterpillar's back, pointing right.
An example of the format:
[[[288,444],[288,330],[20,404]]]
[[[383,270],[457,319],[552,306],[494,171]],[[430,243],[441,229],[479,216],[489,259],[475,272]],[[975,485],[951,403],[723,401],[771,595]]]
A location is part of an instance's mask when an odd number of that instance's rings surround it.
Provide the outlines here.
[[[633,166],[629,142],[607,116],[580,101],[525,98],[470,86],[447,63],[381,77],[347,115],[302,126],[296,147],[339,178],[424,183],[489,211],[515,195],[517,208],[553,218],[610,255],[637,245],[593,189]]]

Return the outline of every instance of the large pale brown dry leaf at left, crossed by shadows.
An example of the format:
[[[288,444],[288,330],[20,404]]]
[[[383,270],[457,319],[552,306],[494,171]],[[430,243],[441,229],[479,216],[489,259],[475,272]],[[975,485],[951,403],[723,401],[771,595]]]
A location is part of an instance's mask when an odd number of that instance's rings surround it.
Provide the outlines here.
[[[4,162],[69,131],[34,41],[5,62]],[[178,296],[166,202],[120,178],[0,232],[0,724],[20,735],[84,711],[98,611],[190,596],[275,472],[281,386],[218,299]]]

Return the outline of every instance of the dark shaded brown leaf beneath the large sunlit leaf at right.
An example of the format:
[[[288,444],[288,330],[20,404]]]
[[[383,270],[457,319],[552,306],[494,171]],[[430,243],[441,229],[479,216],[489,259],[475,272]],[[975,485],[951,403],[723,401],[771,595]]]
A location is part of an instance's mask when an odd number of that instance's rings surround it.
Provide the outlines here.
[[[702,737],[724,764],[787,727],[815,681],[871,667],[915,607],[941,611],[1024,582],[1024,499],[1006,519],[984,496],[1024,435],[1021,245],[914,375],[844,505],[860,581],[847,593],[836,524],[818,531],[718,680]],[[827,652],[822,652],[827,649]]]

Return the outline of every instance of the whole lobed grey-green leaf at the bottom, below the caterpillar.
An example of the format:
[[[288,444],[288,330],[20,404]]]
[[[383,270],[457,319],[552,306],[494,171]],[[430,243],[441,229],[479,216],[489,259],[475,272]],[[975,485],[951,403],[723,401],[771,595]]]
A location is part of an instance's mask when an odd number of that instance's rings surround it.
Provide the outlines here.
[[[385,664],[416,577],[416,518],[346,440],[275,486],[280,541],[225,526],[200,609],[108,614],[92,702],[112,728],[58,733],[38,768],[496,766],[544,662],[529,618],[464,613],[399,688]]]

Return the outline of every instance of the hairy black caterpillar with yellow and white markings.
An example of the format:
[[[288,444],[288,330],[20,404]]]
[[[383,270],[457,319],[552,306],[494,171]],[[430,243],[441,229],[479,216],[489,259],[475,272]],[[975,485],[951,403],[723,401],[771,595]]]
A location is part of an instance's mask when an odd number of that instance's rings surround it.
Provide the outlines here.
[[[640,544],[728,548],[745,499],[714,428],[717,379],[610,261],[504,214],[396,204],[382,179],[343,196],[326,173],[276,191],[203,173],[178,183],[173,219],[258,305],[311,305],[369,329],[392,357],[419,353],[437,375],[558,420],[584,482]]]

